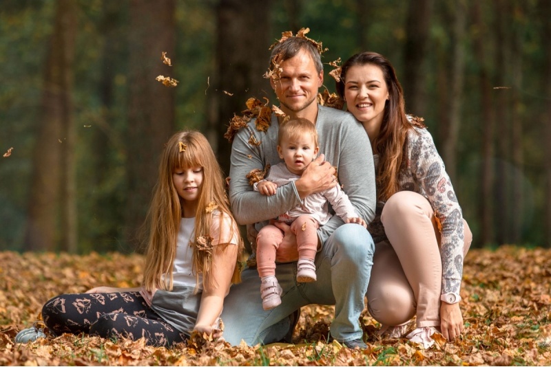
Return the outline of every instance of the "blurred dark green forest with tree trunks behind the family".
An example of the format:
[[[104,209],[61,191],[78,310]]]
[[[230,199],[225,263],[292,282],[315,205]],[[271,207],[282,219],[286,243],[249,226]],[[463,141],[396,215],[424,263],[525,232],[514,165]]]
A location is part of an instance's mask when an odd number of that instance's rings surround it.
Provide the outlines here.
[[[550,19],[549,0],[1,0],[0,250],[138,249],[167,137],[202,131],[227,172],[229,120],[276,104],[269,46],[302,27],[326,64],[391,60],[473,247],[550,247]]]

